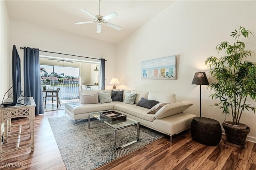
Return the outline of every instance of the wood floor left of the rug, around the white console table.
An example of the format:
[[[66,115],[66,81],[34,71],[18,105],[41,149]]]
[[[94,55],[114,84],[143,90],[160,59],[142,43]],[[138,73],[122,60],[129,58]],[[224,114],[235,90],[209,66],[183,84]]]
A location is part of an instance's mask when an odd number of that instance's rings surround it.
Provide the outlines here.
[[[34,152],[30,152],[28,148],[18,152],[3,154],[0,165],[1,170],[66,170],[48,121],[48,118],[59,116],[64,116],[64,110],[49,111],[45,112],[44,115],[36,116]],[[24,123],[27,120],[19,119],[12,121],[12,124]],[[27,130],[28,126],[22,126],[22,132]],[[17,128],[12,129],[11,133],[15,131],[17,133]],[[30,139],[29,135],[22,135],[20,146],[28,145],[28,139]],[[10,145],[14,146],[12,148],[15,148],[16,141],[14,141],[14,138],[8,139],[8,143],[2,145],[2,149],[11,149]],[[24,167],[17,167],[18,164]]]

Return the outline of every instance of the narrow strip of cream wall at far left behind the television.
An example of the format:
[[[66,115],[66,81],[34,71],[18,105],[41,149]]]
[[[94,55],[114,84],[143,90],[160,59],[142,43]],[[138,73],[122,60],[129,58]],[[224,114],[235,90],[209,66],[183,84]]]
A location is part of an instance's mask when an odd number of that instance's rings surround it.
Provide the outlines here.
[[[11,63],[9,50],[9,14],[5,1],[0,1],[0,7],[0,103],[2,103],[5,92],[12,87],[12,85],[9,84],[9,66]],[[5,98],[8,98],[8,94]]]

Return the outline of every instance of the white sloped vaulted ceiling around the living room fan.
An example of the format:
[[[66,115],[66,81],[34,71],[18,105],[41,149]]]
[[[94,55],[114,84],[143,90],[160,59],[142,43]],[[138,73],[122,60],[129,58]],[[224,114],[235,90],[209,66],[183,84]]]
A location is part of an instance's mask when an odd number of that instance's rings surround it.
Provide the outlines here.
[[[122,27],[118,31],[102,25],[101,33],[96,33],[96,23],[74,24],[92,20],[90,16],[80,11],[82,8],[93,15],[99,15],[98,0],[7,0],[6,5],[10,18],[118,43],[174,2],[172,0],[101,0],[100,15],[118,13],[118,17],[108,22]]]

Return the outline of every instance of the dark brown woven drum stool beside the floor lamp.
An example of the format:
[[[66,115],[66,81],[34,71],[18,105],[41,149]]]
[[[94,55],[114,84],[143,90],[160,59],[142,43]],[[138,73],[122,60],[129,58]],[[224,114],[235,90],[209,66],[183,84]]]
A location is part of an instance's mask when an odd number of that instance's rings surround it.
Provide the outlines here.
[[[194,117],[191,122],[190,132],[192,138],[204,145],[216,146],[221,139],[220,123],[206,117]]]

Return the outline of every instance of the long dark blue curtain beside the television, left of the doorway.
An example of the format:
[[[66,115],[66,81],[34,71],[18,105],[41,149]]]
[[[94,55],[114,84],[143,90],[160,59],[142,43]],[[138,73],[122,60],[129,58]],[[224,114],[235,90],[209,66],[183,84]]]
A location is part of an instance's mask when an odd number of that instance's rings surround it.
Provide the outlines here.
[[[34,98],[36,115],[44,114],[39,49],[24,47],[24,96]]]

